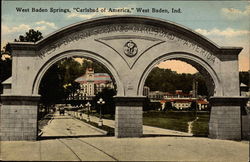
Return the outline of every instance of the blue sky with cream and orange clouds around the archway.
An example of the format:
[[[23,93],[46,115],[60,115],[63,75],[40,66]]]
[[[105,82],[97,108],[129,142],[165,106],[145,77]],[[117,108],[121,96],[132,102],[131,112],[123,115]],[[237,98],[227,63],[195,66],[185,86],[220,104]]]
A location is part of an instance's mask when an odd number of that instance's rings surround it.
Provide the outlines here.
[[[2,1],[1,48],[30,28],[46,36],[62,27],[83,20],[111,15],[145,15],[175,22],[190,28],[219,46],[243,47],[239,55],[239,70],[250,69],[250,1]],[[17,8],[29,9],[18,12]],[[32,12],[32,8],[48,9],[47,12]],[[68,9],[70,12],[50,12],[53,9]],[[99,12],[77,12],[76,8],[98,8]],[[130,9],[130,13],[100,12],[104,8]],[[131,8],[134,8],[132,10]],[[164,9],[169,13],[141,13],[137,8]],[[172,8],[181,13],[171,13]],[[167,61],[158,65],[178,73],[196,70],[189,64]]]

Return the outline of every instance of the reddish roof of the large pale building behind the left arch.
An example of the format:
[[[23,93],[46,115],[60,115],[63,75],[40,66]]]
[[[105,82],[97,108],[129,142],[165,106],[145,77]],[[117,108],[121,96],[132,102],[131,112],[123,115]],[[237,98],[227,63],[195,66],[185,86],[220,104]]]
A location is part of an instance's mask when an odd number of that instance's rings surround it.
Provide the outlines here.
[[[84,74],[75,79],[75,82],[84,84],[87,82],[94,82],[94,84],[112,82],[111,77],[107,73],[94,73],[94,80],[87,79],[87,75]]]

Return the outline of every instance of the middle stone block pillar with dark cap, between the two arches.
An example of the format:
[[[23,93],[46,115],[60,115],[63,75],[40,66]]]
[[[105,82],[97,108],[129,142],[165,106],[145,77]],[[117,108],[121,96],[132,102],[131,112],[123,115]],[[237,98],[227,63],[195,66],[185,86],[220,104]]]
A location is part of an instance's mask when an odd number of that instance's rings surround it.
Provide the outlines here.
[[[142,105],[145,97],[115,97],[115,136],[142,136]]]

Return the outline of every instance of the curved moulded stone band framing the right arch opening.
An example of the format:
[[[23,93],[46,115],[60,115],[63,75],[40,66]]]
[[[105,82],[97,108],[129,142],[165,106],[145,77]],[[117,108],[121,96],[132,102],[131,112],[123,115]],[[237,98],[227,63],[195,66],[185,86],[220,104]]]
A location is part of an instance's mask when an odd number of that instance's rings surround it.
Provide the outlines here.
[[[222,96],[223,91],[221,80],[217,75],[216,71],[206,61],[202,60],[196,55],[186,52],[166,53],[151,61],[151,63],[145,68],[144,72],[142,73],[142,76],[140,77],[137,91],[137,94],[139,96],[143,95],[143,87],[149,73],[157,64],[167,60],[180,60],[191,64],[206,78],[206,84],[209,89],[209,96]]]

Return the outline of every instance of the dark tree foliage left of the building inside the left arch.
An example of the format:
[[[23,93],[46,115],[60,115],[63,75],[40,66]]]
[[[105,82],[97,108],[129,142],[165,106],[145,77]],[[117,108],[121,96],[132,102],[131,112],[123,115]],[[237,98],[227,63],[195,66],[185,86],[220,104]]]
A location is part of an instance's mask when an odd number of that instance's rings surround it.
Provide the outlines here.
[[[76,93],[80,88],[74,80],[83,75],[83,67],[73,58],[63,59],[45,73],[39,93],[42,95],[42,103],[51,105],[65,102],[71,93]]]

